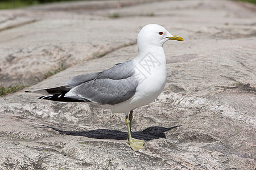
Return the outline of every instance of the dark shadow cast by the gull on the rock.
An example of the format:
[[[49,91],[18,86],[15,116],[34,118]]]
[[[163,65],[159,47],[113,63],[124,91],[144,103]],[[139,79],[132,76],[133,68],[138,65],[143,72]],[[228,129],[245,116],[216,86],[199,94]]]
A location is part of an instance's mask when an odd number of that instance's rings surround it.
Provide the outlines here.
[[[134,131],[131,133],[133,138],[143,139],[145,141],[150,141],[152,139],[166,138],[164,134],[165,131],[175,129],[181,125],[173,126],[171,128],[164,128],[160,126],[152,126],[150,128],[146,128],[142,131]],[[127,132],[119,131],[119,130],[109,130],[109,129],[96,129],[90,131],[65,131],[57,128],[53,128],[51,126],[42,125],[39,128],[51,128],[55,131],[59,131],[60,134],[72,135],[72,136],[81,136],[95,139],[115,139],[115,140],[125,140],[127,139]]]

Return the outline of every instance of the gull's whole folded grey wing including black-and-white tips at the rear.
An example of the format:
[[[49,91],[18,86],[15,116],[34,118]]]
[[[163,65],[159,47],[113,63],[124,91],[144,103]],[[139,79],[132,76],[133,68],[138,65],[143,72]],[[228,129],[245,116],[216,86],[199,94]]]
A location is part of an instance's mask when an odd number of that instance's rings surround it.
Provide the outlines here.
[[[135,94],[138,80],[131,61],[128,61],[99,73],[75,76],[64,84],[67,85],[26,92],[46,95],[39,99],[113,105],[130,99]]]

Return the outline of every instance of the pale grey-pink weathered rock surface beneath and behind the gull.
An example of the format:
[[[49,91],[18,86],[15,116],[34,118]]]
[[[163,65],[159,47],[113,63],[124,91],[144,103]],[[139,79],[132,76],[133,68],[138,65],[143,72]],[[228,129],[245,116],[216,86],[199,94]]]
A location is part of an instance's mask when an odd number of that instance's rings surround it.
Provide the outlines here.
[[[126,144],[124,114],[20,91],[0,98],[0,169],[255,169],[256,7],[128,2],[0,11],[1,83],[43,77],[60,62],[68,69],[29,89],[108,69],[136,56],[144,25],[163,25],[185,42],[164,45],[166,88],[134,111],[146,150]]]

